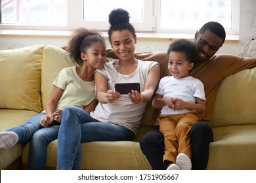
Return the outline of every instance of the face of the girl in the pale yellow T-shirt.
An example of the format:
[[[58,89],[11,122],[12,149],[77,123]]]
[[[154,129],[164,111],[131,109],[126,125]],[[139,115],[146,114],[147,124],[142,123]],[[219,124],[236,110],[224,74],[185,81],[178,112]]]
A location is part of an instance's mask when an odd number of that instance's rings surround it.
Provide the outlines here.
[[[93,42],[85,53],[81,53],[81,58],[84,60],[83,64],[101,69],[106,63],[106,47],[102,42]]]

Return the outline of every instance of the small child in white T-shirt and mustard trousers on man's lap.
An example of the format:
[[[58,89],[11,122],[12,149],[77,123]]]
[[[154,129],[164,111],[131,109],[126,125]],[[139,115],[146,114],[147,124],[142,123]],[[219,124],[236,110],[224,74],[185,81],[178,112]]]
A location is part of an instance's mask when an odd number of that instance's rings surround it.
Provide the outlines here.
[[[179,39],[169,46],[167,55],[171,76],[161,78],[152,101],[154,108],[161,108],[163,165],[167,169],[191,169],[190,128],[205,110],[203,84],[189,75],[199,60],[198,50],[192,42]]]

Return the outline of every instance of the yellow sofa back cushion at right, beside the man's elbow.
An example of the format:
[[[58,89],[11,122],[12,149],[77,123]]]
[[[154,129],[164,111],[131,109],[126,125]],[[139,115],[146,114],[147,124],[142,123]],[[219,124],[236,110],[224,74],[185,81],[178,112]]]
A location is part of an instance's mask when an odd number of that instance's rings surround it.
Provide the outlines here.
[[[219,88],[212,126],[256,124],[256,67],[226,77]]]

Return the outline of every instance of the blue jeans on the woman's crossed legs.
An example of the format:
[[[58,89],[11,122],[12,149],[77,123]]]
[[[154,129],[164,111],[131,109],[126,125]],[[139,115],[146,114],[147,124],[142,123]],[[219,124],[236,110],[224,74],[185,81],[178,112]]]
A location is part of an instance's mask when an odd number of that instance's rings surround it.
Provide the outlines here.
[[[121,125],[99,122],[77,107],[62,112],[57,169],[81,169],[82,142],[132,141],[135,134]]]

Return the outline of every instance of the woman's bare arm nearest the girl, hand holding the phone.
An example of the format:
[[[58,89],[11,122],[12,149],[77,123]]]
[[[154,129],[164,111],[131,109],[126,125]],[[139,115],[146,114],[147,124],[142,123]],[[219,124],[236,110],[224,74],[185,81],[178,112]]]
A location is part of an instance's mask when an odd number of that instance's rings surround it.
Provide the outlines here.
[[[102,73],[95,73],[95,83],[98,102],[112,103],[121,96],[120,93],[115,90],[108,90],[107,78],[102,75]]]

